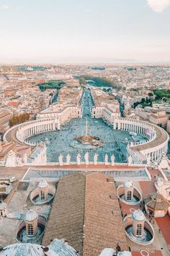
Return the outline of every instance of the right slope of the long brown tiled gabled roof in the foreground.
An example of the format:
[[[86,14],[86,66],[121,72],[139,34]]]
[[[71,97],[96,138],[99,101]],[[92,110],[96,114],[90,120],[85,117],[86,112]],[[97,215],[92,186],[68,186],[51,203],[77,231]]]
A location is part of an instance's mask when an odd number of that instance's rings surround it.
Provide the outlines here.
[[[115,248],[117,242],[127,250],[115,183],[94,172],[86,176],[83,255],[97,256],[106,247]]]

